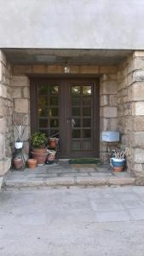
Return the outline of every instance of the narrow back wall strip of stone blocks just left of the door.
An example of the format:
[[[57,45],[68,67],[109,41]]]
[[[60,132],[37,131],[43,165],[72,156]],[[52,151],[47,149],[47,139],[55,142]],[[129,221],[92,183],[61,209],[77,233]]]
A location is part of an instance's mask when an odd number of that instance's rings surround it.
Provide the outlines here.
[[[24,133],[24,152],[29,153],[30,138],[30,84],[26,75],[13,76],[11,79],[14,101],[14,119],[24,120],[26,130]],[[16,138],[14,129],[14,139]]]

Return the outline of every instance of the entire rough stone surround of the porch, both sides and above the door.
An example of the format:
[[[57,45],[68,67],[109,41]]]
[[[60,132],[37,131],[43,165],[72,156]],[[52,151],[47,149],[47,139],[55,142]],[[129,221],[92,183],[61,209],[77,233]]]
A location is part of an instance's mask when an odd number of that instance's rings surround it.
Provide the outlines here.
[[[90,63],[89,63],[90,64]],[[9,170],[14,150],[14,114],[26,120],[24,150],[29,152],[31,136],[31,77],[61,76],[63,66],[14,64],[0,51],[0,175]],[[143,182],[144,178],[144,51],[133,51],[117,65],[70,66],[71,76],[99,78],[101,131],[119,131],[120,146],[126,149],[129,172]],[[106,143],[100,140],[100,157]]]

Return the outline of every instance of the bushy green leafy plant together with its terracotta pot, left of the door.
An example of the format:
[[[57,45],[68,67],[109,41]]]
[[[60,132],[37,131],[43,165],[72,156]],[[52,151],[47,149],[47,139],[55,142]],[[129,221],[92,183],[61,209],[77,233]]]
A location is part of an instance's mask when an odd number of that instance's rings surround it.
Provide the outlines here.
[[[31,137],[32,157],[37,159],[37,166],[43,166],[47,158],[48,138],[44,132],[35,132]]]

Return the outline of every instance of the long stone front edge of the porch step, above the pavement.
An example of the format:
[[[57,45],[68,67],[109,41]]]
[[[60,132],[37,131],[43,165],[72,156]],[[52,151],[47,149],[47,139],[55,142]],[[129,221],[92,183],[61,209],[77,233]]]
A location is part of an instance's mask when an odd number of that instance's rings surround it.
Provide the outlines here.
[[[28,189],[28,188],[59,188],[71,186],[111,186],[133,185],[134,177],[49,177],[46,179],[31,180],[4,180],[3,189]]]

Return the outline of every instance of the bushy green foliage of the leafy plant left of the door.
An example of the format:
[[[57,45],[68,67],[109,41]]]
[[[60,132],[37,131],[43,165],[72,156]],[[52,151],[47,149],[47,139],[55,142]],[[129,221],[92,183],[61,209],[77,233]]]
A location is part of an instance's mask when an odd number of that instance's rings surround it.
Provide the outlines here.
[[[35,132],[32,134],[31,143],[33,148],[45,148],[48,138],[43,132]]]

